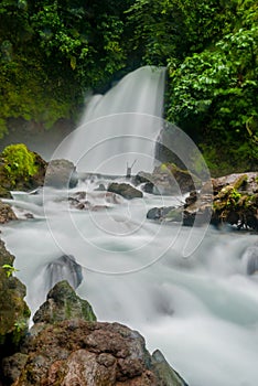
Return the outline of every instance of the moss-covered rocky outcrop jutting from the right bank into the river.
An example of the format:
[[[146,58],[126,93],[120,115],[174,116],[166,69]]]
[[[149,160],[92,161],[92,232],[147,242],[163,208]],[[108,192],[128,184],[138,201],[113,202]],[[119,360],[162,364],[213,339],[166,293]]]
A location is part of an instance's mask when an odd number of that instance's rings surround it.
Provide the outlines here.
[[[200,193],[193,191],[185,204],[166,211],[151,208],[147,217],[183,225],[229,224],[238,229],[258,230],[258,173],[230,174],[207,181]],[[165,213],[165,215],[163,215]]]

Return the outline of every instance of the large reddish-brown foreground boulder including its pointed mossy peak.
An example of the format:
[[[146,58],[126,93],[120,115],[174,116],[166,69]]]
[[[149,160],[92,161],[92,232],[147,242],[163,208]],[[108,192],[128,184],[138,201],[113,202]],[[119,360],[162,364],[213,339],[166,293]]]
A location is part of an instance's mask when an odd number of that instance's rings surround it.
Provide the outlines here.
[[[73,308],[78,298],[65,282],[56,285],[39,311],[21,353],[6,357],[3,372],[13,386],[187,386],[160,352],[119,323],[87,321]],[[80,302],[85,302],[80,299]],[[72,307],[61,318],[50,318]],[[66,304],[64,307],[64,304]],[[78,305],[78,304],[77,304]],[[42,309],[42,308],[41,308]]]

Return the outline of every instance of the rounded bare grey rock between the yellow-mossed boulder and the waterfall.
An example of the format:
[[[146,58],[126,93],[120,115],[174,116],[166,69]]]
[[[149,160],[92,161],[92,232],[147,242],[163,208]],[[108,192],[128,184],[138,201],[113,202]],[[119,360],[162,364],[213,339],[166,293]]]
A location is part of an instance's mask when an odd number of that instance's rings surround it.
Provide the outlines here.
[[[45,185],[56,189],[75,187],[78,175],[73,162],[67,160],[52,160],[46,169]]]

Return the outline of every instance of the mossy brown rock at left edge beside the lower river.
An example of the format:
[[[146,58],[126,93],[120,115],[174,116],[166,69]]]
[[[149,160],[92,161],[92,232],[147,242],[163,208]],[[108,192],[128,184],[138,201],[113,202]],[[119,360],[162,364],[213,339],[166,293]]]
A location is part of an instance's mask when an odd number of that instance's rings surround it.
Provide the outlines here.
[[[0,356],[13,350],[28,331],[30,310],[23,298],[25,286],[13,277],[14,257],[0,240]]]

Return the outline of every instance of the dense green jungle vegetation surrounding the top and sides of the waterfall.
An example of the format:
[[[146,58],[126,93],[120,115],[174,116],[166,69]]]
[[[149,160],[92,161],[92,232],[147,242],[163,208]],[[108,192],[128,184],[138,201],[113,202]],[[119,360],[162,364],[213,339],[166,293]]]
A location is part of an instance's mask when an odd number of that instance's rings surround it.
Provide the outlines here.
[[[0,136],[10,118],[76,121],[85,94],[168,66],[165,119],[214,174],[258,164],[256,0],[3,0]]]

